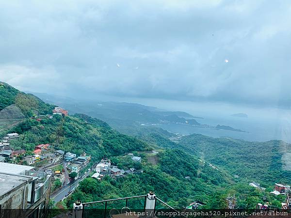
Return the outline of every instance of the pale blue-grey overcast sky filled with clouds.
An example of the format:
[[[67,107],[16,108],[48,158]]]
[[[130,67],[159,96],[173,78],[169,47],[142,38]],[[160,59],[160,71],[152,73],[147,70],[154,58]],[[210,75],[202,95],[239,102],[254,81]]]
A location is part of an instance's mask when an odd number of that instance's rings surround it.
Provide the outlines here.
[[[290,0],[2,1],[0,80],[65,96],[288,105],[290,21]]]

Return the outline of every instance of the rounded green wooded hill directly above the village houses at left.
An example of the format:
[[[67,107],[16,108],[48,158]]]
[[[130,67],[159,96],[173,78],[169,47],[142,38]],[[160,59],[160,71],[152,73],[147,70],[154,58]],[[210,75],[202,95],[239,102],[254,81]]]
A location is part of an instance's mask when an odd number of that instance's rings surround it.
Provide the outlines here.
[[[55,149],[77,155],[86,152],[95,160],[143,150],[147,146],[145,142],[118,133],[104,122],[85,115],[54,115],[52,119],[40,122],[27,119],[12,132],[21,134],[19,140],[11,142],[15,149],[32,151],[37,144],[49,143]]]

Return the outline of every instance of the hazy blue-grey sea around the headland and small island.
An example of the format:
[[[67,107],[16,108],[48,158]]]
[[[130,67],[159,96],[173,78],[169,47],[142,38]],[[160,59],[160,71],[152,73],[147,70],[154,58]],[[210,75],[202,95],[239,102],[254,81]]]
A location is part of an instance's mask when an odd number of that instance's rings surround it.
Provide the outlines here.
[[[132,102],[132,101],[131,101]],[[190,102],[139,99],[135,103],[171,111],[185,111],[204,119],[195,120],[201,124],[229,125],[246,132],[216,130],[188,125],[160,125],[163,129],[181,134],[198,133],[211,137],[231,137],[249,141],[284,140],[291,143],[291,110],[276,107],[258,107],[217,102]],[[245,113],[247,118],[232,114]]]

